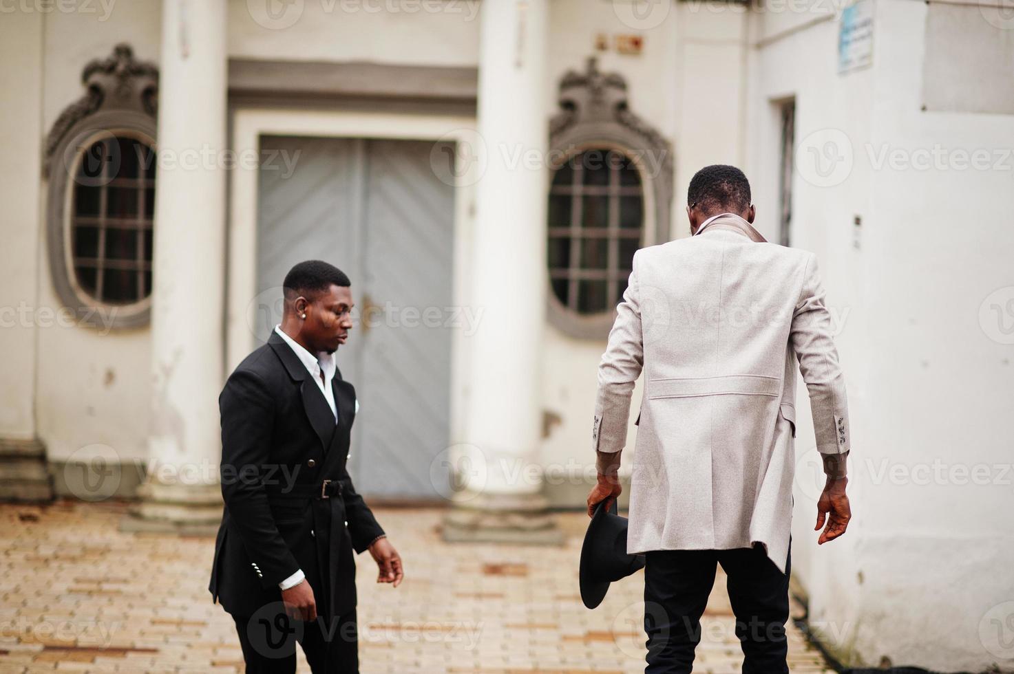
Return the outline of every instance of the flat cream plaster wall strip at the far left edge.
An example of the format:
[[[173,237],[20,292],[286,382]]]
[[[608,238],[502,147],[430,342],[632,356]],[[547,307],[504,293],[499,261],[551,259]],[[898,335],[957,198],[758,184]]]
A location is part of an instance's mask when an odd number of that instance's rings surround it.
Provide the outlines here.
[[[34,396],[39,255],[39,137],[42,124],[43,17],[0,20],[0,437],[35,435]]]

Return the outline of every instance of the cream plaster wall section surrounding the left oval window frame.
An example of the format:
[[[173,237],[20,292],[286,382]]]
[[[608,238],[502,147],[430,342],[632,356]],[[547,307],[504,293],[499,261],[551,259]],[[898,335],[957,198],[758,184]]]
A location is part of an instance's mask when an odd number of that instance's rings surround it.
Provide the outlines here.
[[[160,2],[118,2],[107,14],[100,5],[94,6],[99,8],[97,13],[54,11],[44,17],[43,135],[64,107],[83,93],[81,69],[90,59],[105,58],[115,45],[127,42],[137,58],[158,60]],[[41,147],[41,136],[34,139]],[[39,152],[25,154],[30,157]],[[32,177],[38,176],[34,171]],[[45,217],[43,208],[40,232],[45,232]],[[40,236],[45,242],[45,234]],[[58,309],[62,305],[53,292],[45,247],[38,259],[39,304]],[[124,459],[146,456],[151,390],[148,329],[103,333],[77,325],[54,325],[38,331],[39,434],[50,459],[67,458],[96,443],[112,447]]]

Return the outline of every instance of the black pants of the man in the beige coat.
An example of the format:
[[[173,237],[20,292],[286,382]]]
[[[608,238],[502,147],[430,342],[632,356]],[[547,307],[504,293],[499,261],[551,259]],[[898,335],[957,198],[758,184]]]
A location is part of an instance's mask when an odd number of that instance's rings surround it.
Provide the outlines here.
[[[646,674],[690,674],[716,563],[728,577],[736,636],[745,656],[743,674],[788,674],[791,554],[784,574],[759,543],[731,550],[659,550],[645,557]]]

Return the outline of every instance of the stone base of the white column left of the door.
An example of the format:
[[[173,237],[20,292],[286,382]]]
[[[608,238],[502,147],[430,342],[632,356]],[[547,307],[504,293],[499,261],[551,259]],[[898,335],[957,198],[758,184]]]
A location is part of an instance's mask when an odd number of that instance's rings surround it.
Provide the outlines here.
[[[121,531],[214,535],[222,521],[218,484],[159,484],[138,488],[140,503],[120,521]]]

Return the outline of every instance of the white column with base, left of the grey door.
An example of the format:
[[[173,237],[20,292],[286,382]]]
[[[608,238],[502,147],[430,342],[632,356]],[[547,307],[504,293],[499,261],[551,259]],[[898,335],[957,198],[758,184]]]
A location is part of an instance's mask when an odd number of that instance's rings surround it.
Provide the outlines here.
[[[221,517],[226,3],[162,0],[147,483],[138,513]]]

